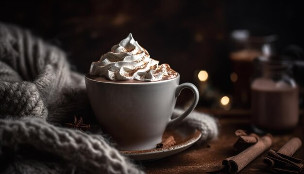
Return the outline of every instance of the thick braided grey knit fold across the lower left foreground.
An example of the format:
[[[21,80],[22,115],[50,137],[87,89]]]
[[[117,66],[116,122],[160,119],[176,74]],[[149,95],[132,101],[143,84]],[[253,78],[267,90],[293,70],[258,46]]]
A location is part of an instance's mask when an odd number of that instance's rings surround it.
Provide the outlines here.
[[[39,150],[73,161],[82,170],[94,174],[140,173],[100,135],[55,127],[42,119],[0,120],[0,139],[6,146],[31,144]]]

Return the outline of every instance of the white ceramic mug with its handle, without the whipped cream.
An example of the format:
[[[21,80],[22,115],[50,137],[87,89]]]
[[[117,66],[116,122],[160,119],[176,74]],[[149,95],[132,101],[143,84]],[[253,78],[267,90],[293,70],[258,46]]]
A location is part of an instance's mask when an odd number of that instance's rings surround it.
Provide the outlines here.
[[[146,150],[155,148],[167,125],[183,120],[198,103],[198,89],[191,83],[179,85],[179,79],[178,74],[156,82],[121,83],[96,81],[86,75],[85,85],[95,117],[120,150]],[[171,119],[184,88],[193,91],[193,103]]]

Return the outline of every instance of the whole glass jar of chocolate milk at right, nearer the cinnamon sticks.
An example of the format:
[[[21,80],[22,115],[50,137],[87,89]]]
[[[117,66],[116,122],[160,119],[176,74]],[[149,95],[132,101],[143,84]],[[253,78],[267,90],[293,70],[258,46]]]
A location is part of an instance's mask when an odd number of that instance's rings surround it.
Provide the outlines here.
[[[299,121],[298,87],[290,75],[292,62],[277,57],[259,57],[251,83],[253,130],[282,132]]]

